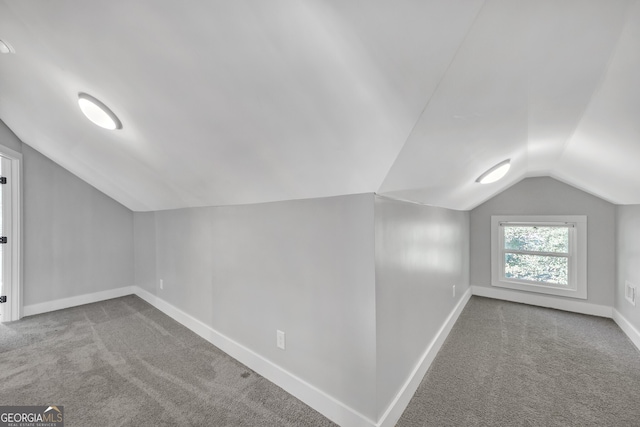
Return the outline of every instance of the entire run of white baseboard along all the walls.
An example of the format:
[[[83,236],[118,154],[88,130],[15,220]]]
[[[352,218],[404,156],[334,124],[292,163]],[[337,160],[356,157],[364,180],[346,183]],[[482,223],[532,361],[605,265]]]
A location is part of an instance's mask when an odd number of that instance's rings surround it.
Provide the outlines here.
[[[462,313],[462,310],[467,305],[472,295],[555,308],[558,310],[588,314],[592,316],[613,318],[620,329],[640,350],[640,331],[638,331],[631,322],[629,322],[613,307],[591,304],[583,301],[553,298],[545,295],[522,293],[507,289],[473,285],[470,286],[462,295],[460,301],[458,301],[458,304],[456,304],[455,308],[451,314],[449,314],[435,338],[425,350],[420,361],[416,364],[411,375],[409,375],[394,400],[389,404],[387,410],[376,423],[322,390],[319,390],[312,384],[282,369],[270,360],[265,359],[249,348],[233,341],[200,320],[138,286],[125,286],[108,291],[95,292],[92,294],[28,305],[24,307],[24,315],[32,316],[35,314],[61,310],[64,308],[90,304],[132,294],[135,294],[147,301],[149,304],[162,311],[175,321],[186,326],[191,331],[220,348],[234,359],[247,365],[249,368],[255,370],[269,381],[283,388],[285,391],[317,410],[325,417],[344,427],[392,427],[398,422],[431,366],[431,363],[438,354],[438,351],[440,351],[440,348],[444,344],[445,339],[451,332],[451,328],[453,328],[453,325],[458,320],[460,313]]]

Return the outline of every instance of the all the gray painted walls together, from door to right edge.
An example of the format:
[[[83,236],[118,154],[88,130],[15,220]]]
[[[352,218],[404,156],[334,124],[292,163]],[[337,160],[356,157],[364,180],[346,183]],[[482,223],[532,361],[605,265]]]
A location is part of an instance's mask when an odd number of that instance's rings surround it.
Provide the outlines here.
[[[551,178],[470,213],[357,195],[134,214],[1,122],[0,144],[23,153],[25,305],[136,284],[374,420],[469,283],[490,286],[491,215],[587,215],[588,301],[615,294],[640,329],[640,206]]]

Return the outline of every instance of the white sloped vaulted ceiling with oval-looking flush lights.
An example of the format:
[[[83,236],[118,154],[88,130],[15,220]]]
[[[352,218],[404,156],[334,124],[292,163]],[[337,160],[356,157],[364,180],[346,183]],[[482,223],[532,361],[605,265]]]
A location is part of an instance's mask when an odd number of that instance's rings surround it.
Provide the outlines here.
[[[527,176],[640,203],[640,0],[0,0],[0,39],[0,119],[132,210],[466,210]]]

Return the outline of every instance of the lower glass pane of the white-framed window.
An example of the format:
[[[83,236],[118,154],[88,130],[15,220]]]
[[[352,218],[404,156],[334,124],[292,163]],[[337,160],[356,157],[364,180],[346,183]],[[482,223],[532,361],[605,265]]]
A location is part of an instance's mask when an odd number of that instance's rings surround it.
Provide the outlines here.
[[[568,258],[505,253],[504,262],[504,276],[507,279],[565,286],[569,284]]]

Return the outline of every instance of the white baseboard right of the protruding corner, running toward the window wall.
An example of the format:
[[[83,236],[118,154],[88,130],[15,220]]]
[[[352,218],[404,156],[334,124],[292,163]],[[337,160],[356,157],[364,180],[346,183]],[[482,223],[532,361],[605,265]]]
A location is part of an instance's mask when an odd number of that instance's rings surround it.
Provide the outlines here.
[[[453,325],[458,320],[460,313],[462,313],[462,310],[469,302],[471,295],[472,290],[471,287],[469,287],[425,350],[413,372],[411,372],[411,375],[409,375],[409,378],[405,381],[395,399],[393,399],[393,402],[391,402],[385,413],[380,417],[377,427],[392,427],[398,422],[414,393],[418,389],[418,386],[422,382],[427,370],[429,370],[429,367],[438,354],[438,351],[440,351],[442,344],[444,344],[449,332],[451,332],[451,328],[453,328]]]

